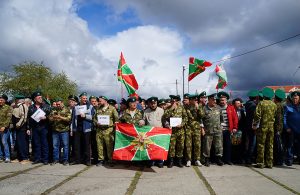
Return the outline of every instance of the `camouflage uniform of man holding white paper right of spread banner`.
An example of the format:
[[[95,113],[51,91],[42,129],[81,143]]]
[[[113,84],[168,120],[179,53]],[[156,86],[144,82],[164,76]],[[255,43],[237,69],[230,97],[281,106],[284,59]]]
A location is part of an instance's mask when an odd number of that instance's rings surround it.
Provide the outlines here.
[[[170,97],[172,98],[173,96]],[[173,158],[175,157],[175,155],[178,158],[179,166],[182,167],[181,159],[183,157],[185,138],[185,132],[183,127],[188,120],[185,108],[182,105],[178,105],[175,109],[167,109],[165,111],[164,118],[166,119],[166,121],[169,121],[171,117],[182,118],[182,123],[181,127],[172,127],[172,135],[169,148],[170,163],[168,167],[173,166]]]

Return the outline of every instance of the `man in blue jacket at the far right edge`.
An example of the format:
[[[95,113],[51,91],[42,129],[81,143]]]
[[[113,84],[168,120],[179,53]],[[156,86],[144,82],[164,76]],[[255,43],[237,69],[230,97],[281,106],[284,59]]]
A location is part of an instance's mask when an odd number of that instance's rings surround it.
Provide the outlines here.
[[[287,157],[286,165],[292,166],[294,154],[297,154],[300,164],[300,91],[290,93],[292,102],[284,108],[284,130],[287,134]],[[294,145],[296,144],[296,145]],[[294,151],[293,151],[293,146]]]

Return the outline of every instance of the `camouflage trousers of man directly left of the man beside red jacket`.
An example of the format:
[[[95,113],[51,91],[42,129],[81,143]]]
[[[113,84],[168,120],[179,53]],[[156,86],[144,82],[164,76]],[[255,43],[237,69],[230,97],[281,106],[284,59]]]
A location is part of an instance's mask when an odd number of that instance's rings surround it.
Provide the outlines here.
[[[186,160],[200,160],[201,132],[200,129],[186,129],[185,132]],[[192,153],[193,158],[192,158]]]

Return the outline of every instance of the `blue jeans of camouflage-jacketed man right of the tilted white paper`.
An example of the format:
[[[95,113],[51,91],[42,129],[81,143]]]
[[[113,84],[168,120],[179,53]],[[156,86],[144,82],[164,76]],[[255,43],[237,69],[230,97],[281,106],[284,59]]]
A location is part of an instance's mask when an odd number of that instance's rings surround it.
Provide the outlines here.
[[[52,132],[53,139],[53,161],[59,161],[60,146],[63,148],[63,161],[69,159],[69,131]]]

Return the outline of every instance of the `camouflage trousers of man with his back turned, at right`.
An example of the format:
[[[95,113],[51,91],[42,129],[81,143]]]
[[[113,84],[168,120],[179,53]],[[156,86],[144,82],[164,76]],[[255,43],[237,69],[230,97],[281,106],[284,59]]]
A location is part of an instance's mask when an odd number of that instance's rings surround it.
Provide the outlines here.
[[[273,167],[273,140],[274,129],[273,126],[269,128],[257,129],[256,143],[257,143],[257,158],[256,163],[260,166]],[[264,162],[266,159],[266,162]]]

